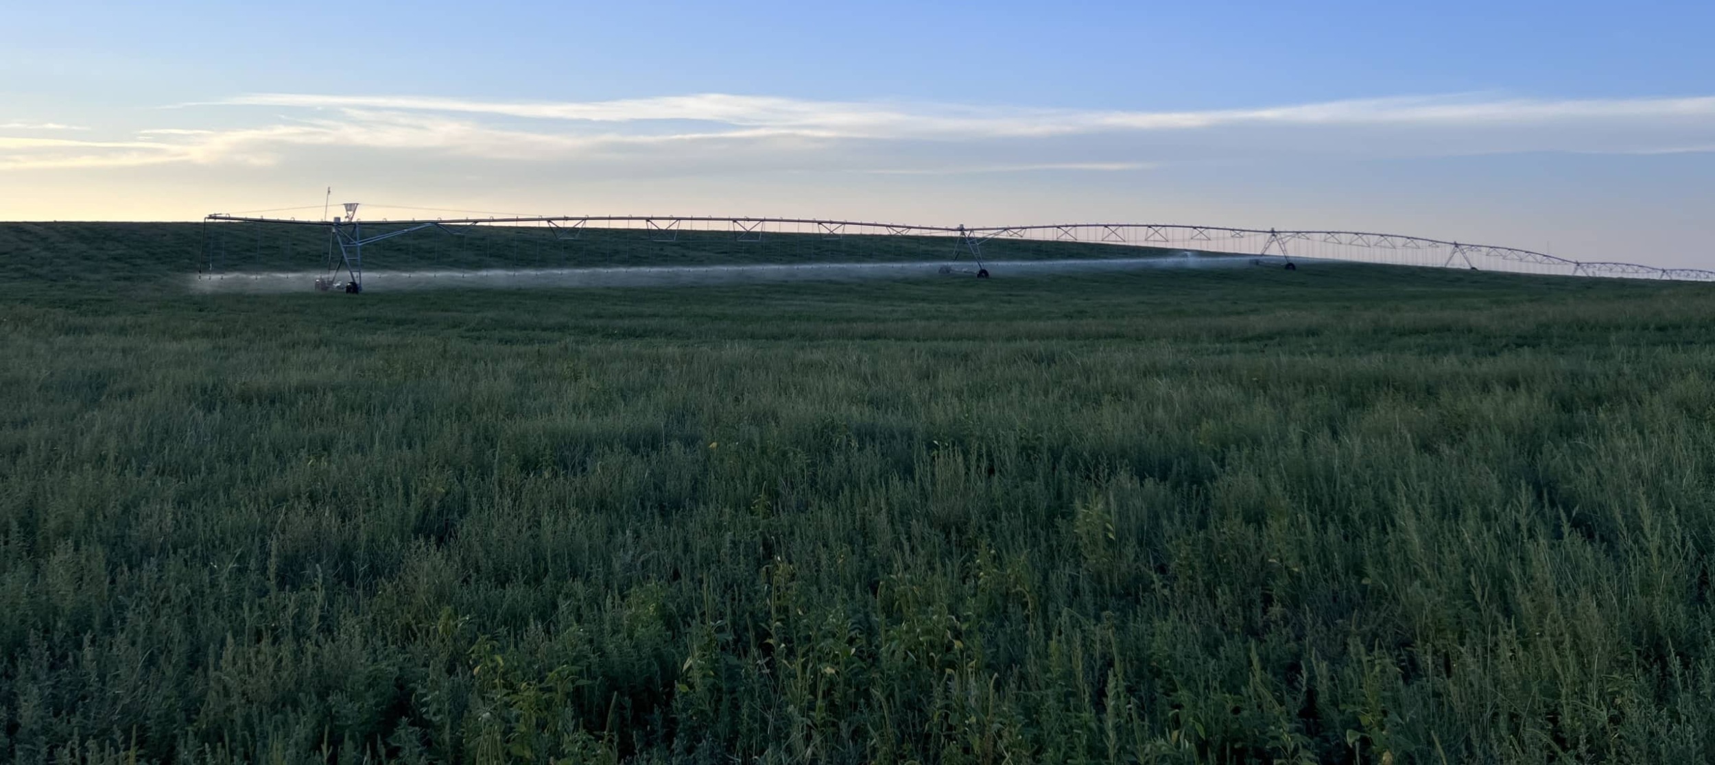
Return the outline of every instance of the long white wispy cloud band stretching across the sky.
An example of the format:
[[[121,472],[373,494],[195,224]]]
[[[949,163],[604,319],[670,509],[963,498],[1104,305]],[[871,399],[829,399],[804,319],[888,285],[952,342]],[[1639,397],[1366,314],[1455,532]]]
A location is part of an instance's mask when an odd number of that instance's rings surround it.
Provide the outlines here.
[[[0,136],[0,168],[269,165],[302,151],[334,149],[683,173],[756,166],[947,175],[1122,172],[1278,154],[1650,154],[1715,144],[1715,96],[1434,96],[1127,111],[736,94],[549,103],[274,93],[180,105],[165,113],[208,122],[87,141]]]

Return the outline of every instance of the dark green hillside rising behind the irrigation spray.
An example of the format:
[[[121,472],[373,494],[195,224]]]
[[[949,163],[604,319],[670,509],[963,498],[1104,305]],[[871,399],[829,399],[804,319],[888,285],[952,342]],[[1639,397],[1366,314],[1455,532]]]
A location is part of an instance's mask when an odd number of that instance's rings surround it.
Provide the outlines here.
[[[367,223],[365,237],[403,225]],[[664,238],[664,237],[671,237]],[[1139,257],[1180,254],[1152,247],[996,240],[1005,259]],[[950,237],[768,233],[760,242],[720,232],[581,232],[528,226],[422,230],[364,249],[370,269],[614,268],[950,261]],[[326,269],[328,230],[280,223],[0,223],[10,280],[38,285],[130,283],[182,288],[187,274]],[[969,261],[969,254],[966,254]]]

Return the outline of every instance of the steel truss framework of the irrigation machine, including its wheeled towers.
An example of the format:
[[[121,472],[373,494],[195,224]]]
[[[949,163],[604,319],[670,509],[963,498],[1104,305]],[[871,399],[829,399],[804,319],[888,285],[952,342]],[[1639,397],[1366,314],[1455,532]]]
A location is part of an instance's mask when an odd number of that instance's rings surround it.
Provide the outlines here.
[[[348,206],[348,213],[355,211]],[[328,285],[360,292],[364,281],[364,247],[415,232],[439,232],[465,237],[475,230],[535,230],[554,242],[583,242],[595,233],[631,232],[648,242],[672,244],[686,238],[708,242],[780,240],[875,240],[887,237],[942,237],[950,242],[943,273],[988,276],[984,257],[1005,257],[1008,245],[1022,242],[1084,242],[1098,245],[1146,247],[1156,250],[1190,250],[1207,254],[1255,256],[1257,262],[1297,268],[1295,261],[1350,261],[1399,266],[1461,268],[1482,271],[1540,273],[1561,276],[1610,276],[1715,281],[1715,269],[1655,268],[1634,262],[1574,261],[1518,247],[1482,245],[1442,238],[1408,237],[1375,232],[1312,232],[1276,228],[1195,226],[1180,223],[1055,223],[1027,226],[933,226],[816,218],[717,218],[717,216],[489,216],[357,221],[298,221],[209,214],[204,218],[204,261],[208,274],[223,273],[230,262],[223,226],[252,223],[278,226],[322,226],[328,230]],[[370,232],[364,233],[364,226]],[[691,235],[691,237],[684,237]],[[261,233],[256,237],[262,247]],[[343,276],[343,283],[334,281]],[[317,286],[326,288],[321,281]]]

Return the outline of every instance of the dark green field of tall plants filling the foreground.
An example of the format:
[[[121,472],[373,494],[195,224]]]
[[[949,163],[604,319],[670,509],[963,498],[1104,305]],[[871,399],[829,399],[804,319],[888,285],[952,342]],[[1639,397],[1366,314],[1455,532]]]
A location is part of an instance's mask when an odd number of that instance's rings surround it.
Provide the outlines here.
[[[1715,760],[1712,286],[199,242],[0,225],[3,760]]]

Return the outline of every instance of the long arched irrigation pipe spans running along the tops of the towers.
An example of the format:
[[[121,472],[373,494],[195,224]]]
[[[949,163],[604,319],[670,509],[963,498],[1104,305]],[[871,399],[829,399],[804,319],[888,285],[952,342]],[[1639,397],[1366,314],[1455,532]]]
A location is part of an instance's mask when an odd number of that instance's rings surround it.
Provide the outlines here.
[[[204,223],[269,223],[302,226],[336,226],[329,221],[209,214]],[[815,235],[844,237],[957,237],[978,254],[979,247],[1005,242],[1084,242],[1182,249],[1213,254],[1245,254],[1298,259],[1382,262],[1399,266],[1468,268],[1480,271],[1544,273],[1562,276],[1653,278],[1679,281],[1715,281],[1715,269],[1657,268],[1638,262],[1576,261],[1518,247],[1466,244],[1444,238],[1410,237],[1377,232],[1276,230],[1195,226],[1182,223],[1055,223],[1027,226],[933,226],[911,223],[845,221],[820,218],[722,218],[722,216],[487,216],[487,218],[408,218],[365,220],[381,237],[394,237],[420,228],[454,226],[542,226],[559,240],[576,240],[587,232],[633,230],[657,242],[676,242],[679,233],[724,233],[737,242],[761,242],[765,237]],[[377,237],[379,238],[379,237]],[[964,249],[964,247],[962,247]]]

